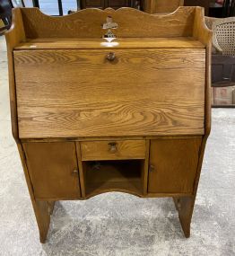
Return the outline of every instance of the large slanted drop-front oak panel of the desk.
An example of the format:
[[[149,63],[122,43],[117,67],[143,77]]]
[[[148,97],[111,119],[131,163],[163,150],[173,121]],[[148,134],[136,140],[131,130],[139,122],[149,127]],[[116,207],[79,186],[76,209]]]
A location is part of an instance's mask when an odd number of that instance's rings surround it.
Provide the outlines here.
[[[205,49],[108,53],[15,51],[19,136],[204,134]]]

